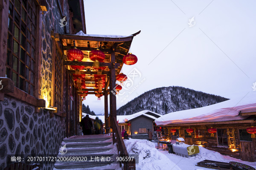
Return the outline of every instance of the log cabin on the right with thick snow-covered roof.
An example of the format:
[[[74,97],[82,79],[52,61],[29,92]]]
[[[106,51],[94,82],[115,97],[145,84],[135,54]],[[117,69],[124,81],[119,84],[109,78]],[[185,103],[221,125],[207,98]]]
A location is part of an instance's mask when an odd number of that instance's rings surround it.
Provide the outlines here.
[[[255,94],[244,98],[230,99],[204,108],[190,109],[166,114],[156,119],[162,126],[167,139],[183,137],[186,144],[196,144],[221,154],[244,161],[256,161],[256,140],[247,133],[255,125]],[[209,128],[216,133],[209,133]],[[192,133],[187,133],[187,129]],[[171,129],[176,129],[171,133]]]

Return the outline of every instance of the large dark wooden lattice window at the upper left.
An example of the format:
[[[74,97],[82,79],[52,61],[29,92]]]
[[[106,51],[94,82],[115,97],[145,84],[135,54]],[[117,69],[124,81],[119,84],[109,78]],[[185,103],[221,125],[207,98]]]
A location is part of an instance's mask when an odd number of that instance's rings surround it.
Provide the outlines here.
[[[37,10],[34,0],[10,0],[6,77],[17,88],[35,94]]]

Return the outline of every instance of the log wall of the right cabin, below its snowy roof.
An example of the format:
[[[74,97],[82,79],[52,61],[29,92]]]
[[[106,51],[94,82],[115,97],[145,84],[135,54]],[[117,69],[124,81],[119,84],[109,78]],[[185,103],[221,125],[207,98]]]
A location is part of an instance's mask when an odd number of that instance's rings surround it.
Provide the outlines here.
[[[246,130],[250,126],[251,123],[213,125],[213,127],[217,130],[225,129],[227,131],[227,146],[220,146],[220,144],[218,144],[217,133],[214,133],[214,136],[211,136],[211,133],[208,133],[208,129],[212,127],[211,125],[168,126],[163,127],[163,130],[168,139],[172,138],[171,133],[169,133],[169,129],[177,129],[179,130],[179,137],[184,138],[186,144],[200,145],[209,150],[214,150],[223,155],[232,156],[234,158],[242,159],[244,161],[256,161],[255,138],[251,138],[252,141],[250,142],[242,140],[240,141],[239,130]],[[191,137],[186,137],[185,131],[189,127],[192,128],[194,131],[191,133]],[[248,135],[250,134],[248,133]]]

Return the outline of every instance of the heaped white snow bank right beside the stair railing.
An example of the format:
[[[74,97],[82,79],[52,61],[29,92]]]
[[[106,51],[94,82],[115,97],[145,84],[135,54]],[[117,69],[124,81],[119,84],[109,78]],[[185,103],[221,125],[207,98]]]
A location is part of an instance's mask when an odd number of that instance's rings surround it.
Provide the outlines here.
[[[152,142],[143,139],[125,139],[124,142],[128,154],[139,155],[136,170],[181,170],[163,153],[160,153]]]

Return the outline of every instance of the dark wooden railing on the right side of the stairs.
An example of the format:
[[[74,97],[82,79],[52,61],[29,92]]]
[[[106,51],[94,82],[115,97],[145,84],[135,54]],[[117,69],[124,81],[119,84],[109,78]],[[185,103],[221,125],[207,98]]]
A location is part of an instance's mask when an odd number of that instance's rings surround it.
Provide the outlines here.
[[[122,139],[121,131],[116,122],[116,118],[113,117],[113,144],[116,143],[119,157],[128,157],[128,152],[125,147],[125,142]],[[124,165],[123,170],[136,170],[135,159],[132,161],[120,161],[120,167]]]

